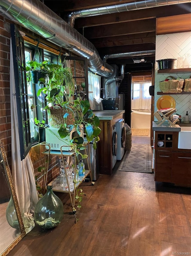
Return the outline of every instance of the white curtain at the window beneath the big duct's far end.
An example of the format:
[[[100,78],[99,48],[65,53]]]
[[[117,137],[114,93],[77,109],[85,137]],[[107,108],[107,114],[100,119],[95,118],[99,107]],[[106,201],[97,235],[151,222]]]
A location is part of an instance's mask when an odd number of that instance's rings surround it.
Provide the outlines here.
[[[91,110],[103,110],[100,90],[101,77],[88,71],[88,91]]]

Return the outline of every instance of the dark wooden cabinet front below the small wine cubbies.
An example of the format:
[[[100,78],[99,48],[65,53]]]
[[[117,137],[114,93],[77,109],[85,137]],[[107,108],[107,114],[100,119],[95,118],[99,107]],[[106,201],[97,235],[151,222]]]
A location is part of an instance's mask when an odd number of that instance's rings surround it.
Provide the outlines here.
[[[171,182],[172,152],[157,150],[155,162],[155,181]]]

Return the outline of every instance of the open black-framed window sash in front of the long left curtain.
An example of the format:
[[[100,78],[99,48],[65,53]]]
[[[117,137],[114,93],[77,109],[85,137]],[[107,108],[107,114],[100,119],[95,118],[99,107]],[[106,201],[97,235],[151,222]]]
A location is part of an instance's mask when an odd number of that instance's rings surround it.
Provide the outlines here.
[[[31,148],[24,40],[14,24],[11,24],[10,28],[19,125],[19,144],[21,160],[23,160]]]

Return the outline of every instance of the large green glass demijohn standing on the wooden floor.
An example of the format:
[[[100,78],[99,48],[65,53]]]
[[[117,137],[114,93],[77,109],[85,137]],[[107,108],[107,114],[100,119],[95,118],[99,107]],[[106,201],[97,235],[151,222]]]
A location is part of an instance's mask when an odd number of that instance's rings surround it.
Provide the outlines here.
[[[63,203],[48,184],[46,194],[38,201],[34,211],[35,223],[41,228],[55,228],[61,222],[64,211]]]

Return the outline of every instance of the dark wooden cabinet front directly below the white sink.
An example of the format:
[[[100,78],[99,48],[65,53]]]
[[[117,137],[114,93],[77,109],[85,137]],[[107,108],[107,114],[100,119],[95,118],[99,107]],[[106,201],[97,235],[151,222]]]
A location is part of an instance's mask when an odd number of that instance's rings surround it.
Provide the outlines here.
[[[172,153],[172,183],[191,185],[191,153]]]

